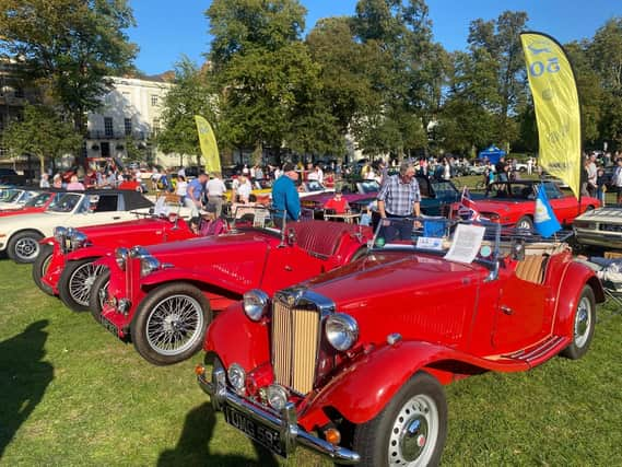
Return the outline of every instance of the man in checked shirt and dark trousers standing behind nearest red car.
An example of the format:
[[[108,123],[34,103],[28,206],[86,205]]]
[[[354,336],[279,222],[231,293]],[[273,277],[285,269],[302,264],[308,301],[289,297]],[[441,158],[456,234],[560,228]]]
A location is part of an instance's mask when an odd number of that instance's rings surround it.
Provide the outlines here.
[[[380,218],[396,220],[385,230],[386,242],[396,238],[410,240],[413,223],[406,221],[406,218],[421,215],[421,192],[414,174],[414,165],[410,162],[402,162],[399,174],[388,177],[378,191],[376,199]],[[415,226],[418,224],[415,221]]]

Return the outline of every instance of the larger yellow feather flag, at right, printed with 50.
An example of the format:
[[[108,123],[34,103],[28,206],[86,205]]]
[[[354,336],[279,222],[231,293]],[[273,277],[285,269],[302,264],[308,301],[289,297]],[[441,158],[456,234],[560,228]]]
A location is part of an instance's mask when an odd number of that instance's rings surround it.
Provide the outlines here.
[[[521,33],[540,142],[538,163],[580,196],[580,108],[573,68],[562,46],[542,33]]]

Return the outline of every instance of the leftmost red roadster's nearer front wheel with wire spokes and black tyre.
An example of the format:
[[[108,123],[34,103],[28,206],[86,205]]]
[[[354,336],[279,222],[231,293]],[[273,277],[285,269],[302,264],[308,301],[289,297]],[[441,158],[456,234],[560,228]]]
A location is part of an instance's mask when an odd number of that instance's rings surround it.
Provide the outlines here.
[[[97,258],[68,261],[58,280],[58,295],[73,312],[86,312],[89,297],[95,279],[104,272],[105,266],[94,265]]]

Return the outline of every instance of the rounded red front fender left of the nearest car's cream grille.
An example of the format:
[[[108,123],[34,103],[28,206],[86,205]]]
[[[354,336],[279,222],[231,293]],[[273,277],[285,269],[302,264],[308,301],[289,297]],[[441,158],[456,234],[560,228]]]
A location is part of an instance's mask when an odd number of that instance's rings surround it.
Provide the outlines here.
[[[232,338],[244,336],[243,339]],[[203,350],[215,353],[225,367],[232,363],[250,372],[270,361],[269,326],[263,320],[251,322],[242,310],[242,303],[231,305],[210,324]]]

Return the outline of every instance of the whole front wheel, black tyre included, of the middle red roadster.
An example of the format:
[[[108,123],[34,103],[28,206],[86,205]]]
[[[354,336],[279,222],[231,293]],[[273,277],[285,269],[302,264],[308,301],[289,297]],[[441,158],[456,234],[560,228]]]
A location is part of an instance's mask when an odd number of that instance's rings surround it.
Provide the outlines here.
[[[173,282],[152,290],[136,311],[131,338],[138,353],[169,365],[201,349],[212,320],[208,299],[195,285]]]

